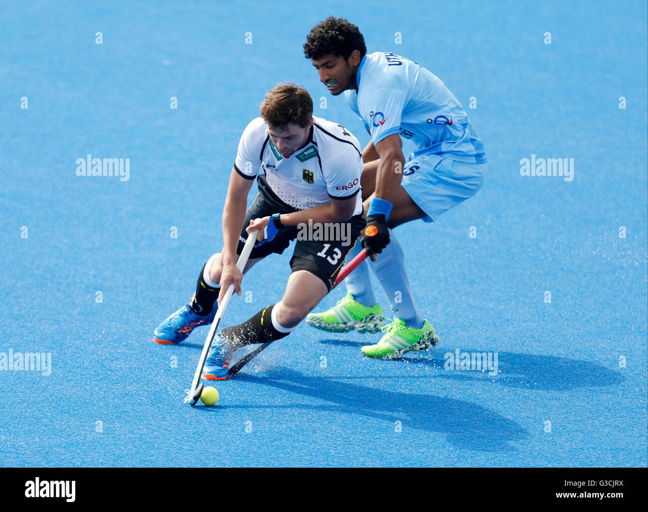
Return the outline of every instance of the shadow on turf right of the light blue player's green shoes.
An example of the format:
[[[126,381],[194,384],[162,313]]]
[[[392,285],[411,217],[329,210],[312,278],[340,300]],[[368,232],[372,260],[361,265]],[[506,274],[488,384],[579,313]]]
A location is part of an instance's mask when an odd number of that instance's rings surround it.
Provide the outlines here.
[[[359,347],[358,342],[321,339],[321,344],[348,345]],[[477,349],[461,349],[462,352],[481,352]],[[458,381],[484,381],[490,384],[502,384],[515,388],[538,390],[566,390],[571,388],[593,388],[612,386],[625,381],[625,377],[605,366],[589,361],[579,361],[567,357],[553,355],[531,355],[525,353],[499,352],[498,370],[496,376],[480,370],[446,370],[446,352],[443,348],[435,348],[419,354],[408,352],[401,359],[380,361],[382,364],[420,364],[432,366],[439,370],[434,378]],[[443,359],[439,359],[439,357]]]

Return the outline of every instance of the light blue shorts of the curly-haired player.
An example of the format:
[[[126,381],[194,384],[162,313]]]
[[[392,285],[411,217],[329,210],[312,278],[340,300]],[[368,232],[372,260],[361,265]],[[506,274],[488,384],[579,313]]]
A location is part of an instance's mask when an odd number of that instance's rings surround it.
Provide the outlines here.
[[[486,174],[486,163],[458,162],[437,153],[405,157],[400,184],[432,222],[443,212],[463,203],[480,190]]]

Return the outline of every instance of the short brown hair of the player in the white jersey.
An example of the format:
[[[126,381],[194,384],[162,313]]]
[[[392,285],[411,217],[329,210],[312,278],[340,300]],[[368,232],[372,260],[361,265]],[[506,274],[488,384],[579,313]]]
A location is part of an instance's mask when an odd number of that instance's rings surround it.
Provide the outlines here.
[[[313,118],[313,100],[303,87],[279,83],[268,91],[259,113],[270,128],[285,129],[288,124],[306,128]]]

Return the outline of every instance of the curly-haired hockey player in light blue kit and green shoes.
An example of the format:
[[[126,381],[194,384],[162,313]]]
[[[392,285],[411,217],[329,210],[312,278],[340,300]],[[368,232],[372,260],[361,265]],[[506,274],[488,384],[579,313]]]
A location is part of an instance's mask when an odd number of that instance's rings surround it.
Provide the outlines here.
[[[382,313],[371,289],[371,266],[394,319],[382,327],[378,343],[363,346],[362,352],[395,359],[410,350],[426,350],[438,338],[415,303],[404,254],[391,229],[417,219],[436,221],[472,197],[487,167],[481,140],[439,78],[399,55],[367,54],[360,30],[346,19],[328,17],[312,28],[304,54],[332,95],[344,93],[371,135],[362,151],[367,212],[362,247],[371,253],[371,263],[347,278],[347,296],[325,313],[308,315],[307,322],[325,331],[375,332],[365,321]],[[413,153],[403,155],[402,138],[415,144]]]

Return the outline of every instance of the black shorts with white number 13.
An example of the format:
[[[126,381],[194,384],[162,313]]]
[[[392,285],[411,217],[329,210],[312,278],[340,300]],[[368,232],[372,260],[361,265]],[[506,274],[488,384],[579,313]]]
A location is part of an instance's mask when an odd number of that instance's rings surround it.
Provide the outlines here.
[[[272,214],[290,214],[299,210],[286,205],[270,190],[264,176],[259,176],[259,194],[248,208],[243,229],[238,239],[237,254],[243,250],[248,232],[249,221],[271,216]],[[285,227],[279,230],[275,238],[260,246],[255,245],[250,253],[251,259],[265,258],[268,254],[282,254],[290,242],[297,238],[293,256],[290,259],[292,271],[307,270],[318,276],[330,291],[338,276],[347,254],[354,244],[360,243],[358,236],[367,222],[362,215],[351,217],[347,222],[325,224],[321,226],[300,225]]]

